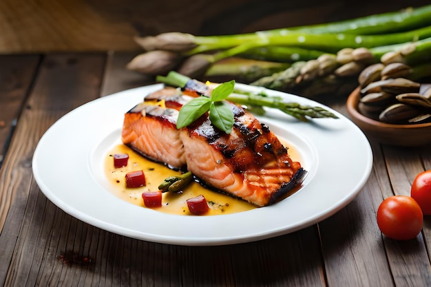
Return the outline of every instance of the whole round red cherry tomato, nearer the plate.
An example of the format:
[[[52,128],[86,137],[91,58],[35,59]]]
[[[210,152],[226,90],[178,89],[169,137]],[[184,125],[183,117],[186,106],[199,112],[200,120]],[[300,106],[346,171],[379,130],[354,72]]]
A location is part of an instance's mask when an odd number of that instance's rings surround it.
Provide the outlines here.
[[[381,232],[394,240],[410,240],[421,232],[421,206],[407,195],[394,195],[381,202],[377,209]]]

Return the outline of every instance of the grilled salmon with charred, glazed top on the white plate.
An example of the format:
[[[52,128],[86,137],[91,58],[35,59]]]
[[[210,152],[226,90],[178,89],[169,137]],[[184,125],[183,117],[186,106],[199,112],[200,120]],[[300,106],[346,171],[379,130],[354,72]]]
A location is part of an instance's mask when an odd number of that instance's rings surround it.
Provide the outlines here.
[[[231,104],[231,134],[213,127],[208,113],[177,129],[179,110],[193,96],[198,95],[173,87],[146,96],[125,114],[123,143],[171,169],[191,171],[205,187],[256,206],[273,204],[302,183],[301,164],[243,107]]]

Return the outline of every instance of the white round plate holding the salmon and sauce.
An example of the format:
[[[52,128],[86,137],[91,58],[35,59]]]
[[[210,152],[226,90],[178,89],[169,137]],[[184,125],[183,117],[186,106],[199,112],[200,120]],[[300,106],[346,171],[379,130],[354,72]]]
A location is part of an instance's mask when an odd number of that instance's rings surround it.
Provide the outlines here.
[[[237,84],[251,91],[321,105],[299,96]],[[93,100],[60,118],[42,136],[32,168],[41,191],[66,213],[106,231],[139,240],[208,246],[251,242],[305,228],[346,206],[368,180],[370,144],[350,120],[322,118],[302,123],[271,109],[258,116],[299,151],[308,171],[293,195],[251,211],[228,215],[170,215],[130,204],[106,190],[104,157],[118,144],[124,113],[161,84]]]

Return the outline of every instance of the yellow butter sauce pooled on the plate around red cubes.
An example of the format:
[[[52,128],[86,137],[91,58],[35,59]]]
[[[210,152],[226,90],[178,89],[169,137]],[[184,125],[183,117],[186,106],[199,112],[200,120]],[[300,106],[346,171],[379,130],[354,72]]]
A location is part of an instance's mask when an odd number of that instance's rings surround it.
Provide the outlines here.
[[[299,157],[296,150],[289,148],[288,151],[291,158],[295,159]],[[126,167],[114,167],[113,156],[115,153],[127,153],[129,155],[129,161]],[[125,185],[126,173],[138,170],[142,170],[145,174],[145,187],[127,188]],[[107,153],[105,160],[105,175],[112,184],[112,189],[109,189],[109,191],[121,200],[125,200],[144,208],[146,208],[142,198],[142,193],[144,191],[158,191],[158,185],[163,182],[165,178],[168,178],[169,176],[178,176],[180,174],[180,171],[174,171],[163,164],[152,162],[151,160],[140,156],[126,145],[115,146],[109,151],[109,153]],[[187,207],[186,200],[201,194],[204,195],[210,207],[209,212],[205,215],[238,213],[257,208],[249,202],[211,191],[202,187],[197,182],[192,182],[185,187],[182,193],[162,193],[162,206],[154,209],[163,213],[191,215]]]

